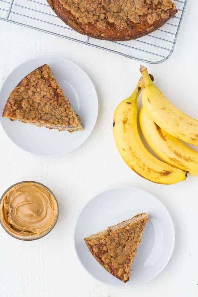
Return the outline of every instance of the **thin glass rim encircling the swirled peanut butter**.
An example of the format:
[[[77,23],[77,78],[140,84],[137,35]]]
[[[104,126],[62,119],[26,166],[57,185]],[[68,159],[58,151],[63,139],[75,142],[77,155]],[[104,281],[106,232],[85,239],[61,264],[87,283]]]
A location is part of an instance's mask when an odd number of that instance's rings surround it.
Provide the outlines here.
[[[33,181],[33,180],[25,180],[25,181],[21,181],[21,182],[18,182],[18,183],[13,184],[13,185],[10,186],[9,188],[7,188],[7,190],[2,194],[2,196],[1,196],[1,198],[0,198],[0,207],[1,207],[2,199],[3,199],[3,197],[6,195],[6,193],[7,193],[11,188],[13,188],[13,187],[15,187],[15,186],[17,186],[17,185],[19,185],[19,184],[22,184],[22,183],[36,183],[36,184],[38,184],[38,185],[43,186],[47,191],[49,191],[49,192],[52,194],[52,196],[54,197],[54,200],[56,201],[56,204],[57,204],[57,216],[56,216],[56,219],[55,219],[55,221],[54,221],[53,226],[52,226],[46,233],[44,233],[44,234],[41,235],[41,236],[38,236],[37,238],[19,238],[19,237],[13,235],[12,233],[10,233],[10,232],[3,226],[3,224],[2,224],[2,220],[1,220],[1,219],[0,219],[0,224],[1,224],[1,226],[3,227],[3,229],[7,232],[7,234],[9,234],[10,236],[12,236],[12,237],[15,238],[15,239],[23,240],[23,241],[32,241],[32,240],[41,239],[42,237],[44,237],[45,235],[47,235],[47,234],[54,228],[54,226],[55,226],[56,223],[57,223],[58,215],[59,215],[59,208],[58,208],[58,202],[57,202],[56,196],[55,196],[54,193],[53,193],[48,187],[46,187],[43,183],[35,182],[35,181]]]

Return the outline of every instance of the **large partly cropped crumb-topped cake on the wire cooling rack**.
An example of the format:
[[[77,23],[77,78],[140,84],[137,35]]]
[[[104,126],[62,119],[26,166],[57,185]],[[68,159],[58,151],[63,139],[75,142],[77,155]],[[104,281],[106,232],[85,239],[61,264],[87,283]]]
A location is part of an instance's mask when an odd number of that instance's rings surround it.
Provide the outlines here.
[[[171,0],[47,0],[71,28],[90,37],[124,41],[161,27],[173,17]]]

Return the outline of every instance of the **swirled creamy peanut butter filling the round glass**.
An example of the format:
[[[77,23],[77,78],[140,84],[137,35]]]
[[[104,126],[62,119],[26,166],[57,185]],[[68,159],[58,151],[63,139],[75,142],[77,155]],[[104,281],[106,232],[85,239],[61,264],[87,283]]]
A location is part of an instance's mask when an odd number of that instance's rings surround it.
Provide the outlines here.
[[[37,238],[55,224],[57,202],[44,186],[24,182],[12,187],[2,197],[0,220],[11,235],[18,238]]]

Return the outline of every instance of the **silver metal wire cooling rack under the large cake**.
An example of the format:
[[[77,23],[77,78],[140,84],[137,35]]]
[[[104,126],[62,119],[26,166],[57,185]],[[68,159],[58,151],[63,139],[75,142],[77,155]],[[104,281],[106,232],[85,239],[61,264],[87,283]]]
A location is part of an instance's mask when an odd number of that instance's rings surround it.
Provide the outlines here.
[[[102,41],[64,24],[45,0],[0,0],[0,20],[36,29],[148,63],[166,61],[174,51],[188,0],[175,0],[178,13],[160,29],[132,41]]]

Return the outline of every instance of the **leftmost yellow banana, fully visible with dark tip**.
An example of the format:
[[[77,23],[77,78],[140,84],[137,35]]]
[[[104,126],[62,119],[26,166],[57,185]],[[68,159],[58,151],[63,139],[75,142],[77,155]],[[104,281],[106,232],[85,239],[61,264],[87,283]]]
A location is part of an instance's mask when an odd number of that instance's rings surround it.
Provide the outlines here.
[[[132,93],[114,112],[114,140],[120,155],[137,174],[155,183],[172,184],[186,179],[186,172],[166,164],[147,151],[137,129],[137,98],[144,88],[142,78]]]

